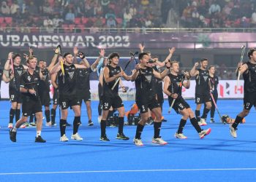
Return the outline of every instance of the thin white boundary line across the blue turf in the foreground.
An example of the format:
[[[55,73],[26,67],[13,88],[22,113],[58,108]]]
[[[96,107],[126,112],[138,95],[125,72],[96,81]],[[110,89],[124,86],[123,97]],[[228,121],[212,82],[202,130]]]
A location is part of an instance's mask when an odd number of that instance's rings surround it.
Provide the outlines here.
[[[173,170],[78,170],[55,172],[0,173],[0,175],[37,175],[37,174],[70,174],[70,173],[136,173],[136,172],[168,172],[168,171],[221,171],[221,170],[256,170],[256,168],[220,168],[220,169],[173,169]]]

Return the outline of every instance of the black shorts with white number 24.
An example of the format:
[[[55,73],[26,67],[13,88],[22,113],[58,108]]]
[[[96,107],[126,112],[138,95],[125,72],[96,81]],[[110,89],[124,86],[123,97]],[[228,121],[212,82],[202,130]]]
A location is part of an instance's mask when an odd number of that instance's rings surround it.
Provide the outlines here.
[[[123,100],[121,100],[119,95],[116,95],[114,97],[108,97],[105,95],[102,95],[102,108],[104,111],[107,111],[110,109],[110,107],[113,108],[121,108],[124,106]]]

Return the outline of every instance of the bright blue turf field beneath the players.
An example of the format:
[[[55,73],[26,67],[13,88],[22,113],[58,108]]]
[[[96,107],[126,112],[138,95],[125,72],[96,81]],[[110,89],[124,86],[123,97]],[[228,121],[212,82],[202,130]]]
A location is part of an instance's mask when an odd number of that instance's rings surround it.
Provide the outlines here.
[[[195,109],[193,100],[189,100]],[[124,102],[126,110],[132,102]],[[242,100],[219,100],[219,111],[233,118],[242,108]],[[80,135],[83,141],[59,142],[59,127],[43,127],[47,143],[34,143],[34,128],[19,129],[17,143],[9,140],[7,129],[10,103],[1,101],[0,181],[255,181],[256,123],[255,109],[238,126],[238,138],[230,136],[228,125],[208,124],[211,134],[200,139],[190,122],[184,128],[187,140],[173,137],[181,116],[167,115],[165,100],[161,135],[167,146],[151,143],[153,126],[143,130],[144,146],[132,143],[135,126],[124,127],[131,139],[115,139],[117,128],[108,127],[110,142],[99,141],[97,102],[92,102],[93,127],[87,127],[86,110],[82,108]],[[59,111],[57,112],[59,114]],[[69,112],[69,123],[73,114]],[[59,115],[56,116],[59,125]],[[127,119],[125,119],[127,120]],[[209,120],[209,119],[208,119]],[[208,122],[209,123],[209,122]],[[72,127],[67,127],[70,138]]]

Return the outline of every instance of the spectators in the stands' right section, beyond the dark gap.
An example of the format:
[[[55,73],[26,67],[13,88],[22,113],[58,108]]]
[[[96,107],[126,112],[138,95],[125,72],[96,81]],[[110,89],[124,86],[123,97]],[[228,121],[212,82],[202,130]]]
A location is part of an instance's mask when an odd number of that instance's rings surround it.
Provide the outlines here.
[[[185,28],[256,28],[255,0],[181,0]]]

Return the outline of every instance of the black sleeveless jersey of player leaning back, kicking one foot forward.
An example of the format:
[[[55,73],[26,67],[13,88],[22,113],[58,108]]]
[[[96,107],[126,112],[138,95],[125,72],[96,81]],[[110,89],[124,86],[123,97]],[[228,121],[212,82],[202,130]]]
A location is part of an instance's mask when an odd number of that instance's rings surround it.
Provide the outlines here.
[[[178,75],[168,74],[168,76],[170,78],[170,85],[167,90],[171,93],[178,94],[178,97],[180,97],[182,93],[182,85],[185,78],[184,74],[178,74]]]

